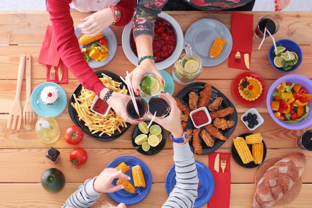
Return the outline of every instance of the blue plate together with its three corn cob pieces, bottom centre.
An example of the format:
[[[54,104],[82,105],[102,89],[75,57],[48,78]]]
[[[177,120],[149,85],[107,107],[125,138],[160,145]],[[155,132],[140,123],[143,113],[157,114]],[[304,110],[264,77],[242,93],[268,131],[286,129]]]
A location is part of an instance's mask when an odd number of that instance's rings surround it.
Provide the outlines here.
[[[132,156],[121,156],[110,162],[107,167],[116,168],[130,176],[129,181],[122,182],[125,183],[124,186],[127,186],[127,188],[117,192],[107,193],[112,200],[117,203],[125,203],[126,205],[135,205],[149,195],[153,182],[152,173],[142,160]],[[142,175],[143,177],[141,177]],[[115,179],[113,185],[117,183],[119,183],[118,179]]]

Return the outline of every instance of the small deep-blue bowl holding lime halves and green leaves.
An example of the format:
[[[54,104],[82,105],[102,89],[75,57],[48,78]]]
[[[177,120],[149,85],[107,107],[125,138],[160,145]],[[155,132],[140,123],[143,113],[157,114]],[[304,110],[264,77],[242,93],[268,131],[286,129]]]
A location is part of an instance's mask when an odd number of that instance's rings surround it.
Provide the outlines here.
[[[294,65],[293,68],[288,71],[284,71],[283,68],[277,68],[274,65],[274,61],[273,61],[275,57],[275,53],[274,53],[274,45],[272,45],[269,50],[269,61],[270,61],[271,66],[279,72],[288,73],[288,72],[295,71],[301,65],[302,59],[303,59],[302,50],[300,46],[296,42],[289,40],[289,39],[281,39],[281,40],[276,41],[276,46],[279,46],[280,44],[282,44],[282,46],[286,48],[285,51],[294,51],[295,53],[298,54],[298,63]]]

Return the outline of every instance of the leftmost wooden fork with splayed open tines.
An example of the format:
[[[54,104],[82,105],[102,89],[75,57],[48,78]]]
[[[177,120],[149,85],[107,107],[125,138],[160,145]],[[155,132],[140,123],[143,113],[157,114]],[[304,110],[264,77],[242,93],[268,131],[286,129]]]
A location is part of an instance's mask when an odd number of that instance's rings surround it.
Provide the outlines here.
[[[21,91],[21,86],[22,86],[23,79],[24,79],[24,71],[25,71],[25,54],[22,54],[20,56],[20,61],[19,61],[15,99],[8,113],[6,129],[10,127],[11,129],[15,129],[16,121],[17,121],[16,130],[19,130],[20,128],[20,124],[22,121],[22,109],[20,105],[20,91]],[[12,119],[13,119],[13,122],[11,122]]]

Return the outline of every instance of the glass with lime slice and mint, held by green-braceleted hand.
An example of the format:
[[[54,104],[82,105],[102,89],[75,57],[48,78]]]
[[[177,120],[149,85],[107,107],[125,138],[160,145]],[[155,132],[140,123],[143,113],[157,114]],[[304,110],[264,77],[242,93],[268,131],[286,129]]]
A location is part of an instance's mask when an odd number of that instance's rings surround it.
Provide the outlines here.
[[[158,95],[164,91],[164,88],[165,85],[155,74],[147,73],[140,79],[140,95],[144,98]]]

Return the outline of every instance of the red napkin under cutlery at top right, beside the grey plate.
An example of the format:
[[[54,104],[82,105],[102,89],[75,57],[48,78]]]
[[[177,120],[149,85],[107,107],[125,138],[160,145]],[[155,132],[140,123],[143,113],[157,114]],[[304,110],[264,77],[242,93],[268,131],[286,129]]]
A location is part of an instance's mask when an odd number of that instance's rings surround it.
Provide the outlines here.
[[[233,47],[229,57],[229,67],[248,70],[245,66],[244,54],[249,53],[251,60],[252,38],[253,38],[253,14],[232,13],[231,34]],[[235,64],[235,54],[241,53],[241,63]]]

